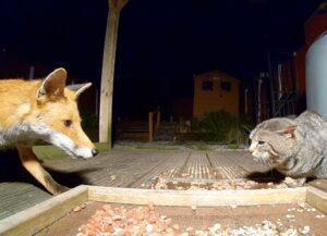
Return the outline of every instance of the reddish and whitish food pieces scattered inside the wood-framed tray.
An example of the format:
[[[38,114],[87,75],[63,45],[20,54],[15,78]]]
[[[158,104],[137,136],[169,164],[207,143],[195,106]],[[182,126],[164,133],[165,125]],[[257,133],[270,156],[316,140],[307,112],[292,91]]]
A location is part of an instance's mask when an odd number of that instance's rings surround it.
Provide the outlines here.
[[[78,207],[81,208],[81,206]],[[304,206],[300,207],[304,208]],[[291,209],[291,211],[294,210]],[[322,215],[324,214],[319,214],[319,218]],[[288,220],[294,220],[294,214],[286,214]],[[222,226],[219,223],[211,226],[203,225],[199,228],[193,226],[183,228],[179,224],[172,223],[167,215],[159,215],[155,206],[150,203],[132,209],[104,204],[86,224],[78,227],[76,236],[299,236],[307,235],[310,232],[308,225],[298,228],[292,225],[287,226],[281,219],[277,219],[276,223],[264,220],[258,224],[239,228]]]

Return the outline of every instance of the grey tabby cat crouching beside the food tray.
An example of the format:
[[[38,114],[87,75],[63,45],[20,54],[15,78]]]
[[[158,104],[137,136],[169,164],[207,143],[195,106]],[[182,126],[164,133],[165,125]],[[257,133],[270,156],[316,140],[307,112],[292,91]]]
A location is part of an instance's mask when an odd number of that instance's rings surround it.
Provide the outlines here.
[[[277,117],[258,124],[250,134],[255,160],[296,178],[327,178],[327,121],[305,111],[296,119]]]

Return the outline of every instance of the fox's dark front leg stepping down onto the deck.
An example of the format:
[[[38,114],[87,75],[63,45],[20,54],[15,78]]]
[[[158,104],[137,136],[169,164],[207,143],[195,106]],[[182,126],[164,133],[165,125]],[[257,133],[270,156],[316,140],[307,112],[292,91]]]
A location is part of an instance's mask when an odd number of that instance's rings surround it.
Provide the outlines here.
[[[69,188],[58,184],[41,166],[32,147],[16,146],[24,167],[52,195],[61,194]]]

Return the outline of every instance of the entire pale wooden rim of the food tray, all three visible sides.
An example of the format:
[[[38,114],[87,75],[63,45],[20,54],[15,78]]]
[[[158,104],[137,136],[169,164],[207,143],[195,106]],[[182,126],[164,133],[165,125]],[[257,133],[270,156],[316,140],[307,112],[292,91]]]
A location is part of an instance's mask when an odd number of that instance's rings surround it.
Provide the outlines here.
[[[33,235],[86,200],[156,206],[228,207],[307,202],[327,213],[327,192],[314,187],[255,190],[148,190],[78,186],[0,221],[0,235]]]

